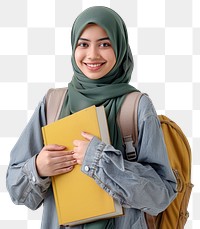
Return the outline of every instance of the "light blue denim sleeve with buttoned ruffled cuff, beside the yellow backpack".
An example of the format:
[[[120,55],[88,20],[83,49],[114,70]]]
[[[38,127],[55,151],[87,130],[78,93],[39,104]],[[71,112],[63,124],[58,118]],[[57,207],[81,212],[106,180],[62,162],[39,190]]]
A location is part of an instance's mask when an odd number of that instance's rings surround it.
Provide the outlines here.
[[[160,122],[151,100],[142,96],[138,108],[138,159],[94,137],[87,149],[82,171],[92,177],[125,208],[157,215],[176,196],[176,180],[169,165]]]

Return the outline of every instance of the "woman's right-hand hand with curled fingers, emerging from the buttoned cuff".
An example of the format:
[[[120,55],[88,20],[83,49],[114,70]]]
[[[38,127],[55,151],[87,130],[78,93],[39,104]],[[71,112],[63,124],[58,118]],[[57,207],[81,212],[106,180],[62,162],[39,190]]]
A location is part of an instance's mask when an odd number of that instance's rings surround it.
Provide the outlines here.
[[[85,133],[85,132],[82,132],[81,135],[86,140],[74,140],[73,141],[73,144],[74,144],[73,157],[76,159],[77,163],[80,165],[83,163],[83,159],[87,151],[88,145],[90,141],[92,140],[92,138],[94,137],[93,135]]]

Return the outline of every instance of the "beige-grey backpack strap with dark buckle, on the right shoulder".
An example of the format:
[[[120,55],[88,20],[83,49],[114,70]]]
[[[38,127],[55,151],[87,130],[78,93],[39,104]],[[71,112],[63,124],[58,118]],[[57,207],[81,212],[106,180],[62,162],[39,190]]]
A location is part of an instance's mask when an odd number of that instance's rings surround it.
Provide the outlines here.
[[[125,145],[126,157],[132,161],[137,158],[136,146],[138,142],[137,108],[143,93],[129,93],[118,112],[117,121]]]

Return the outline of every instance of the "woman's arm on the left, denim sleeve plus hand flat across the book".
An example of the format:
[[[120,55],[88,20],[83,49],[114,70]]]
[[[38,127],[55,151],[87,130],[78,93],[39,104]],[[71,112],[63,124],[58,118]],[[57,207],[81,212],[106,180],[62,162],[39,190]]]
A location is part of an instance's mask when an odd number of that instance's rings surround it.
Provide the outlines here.
[[[50,176],[70,172],[76,160],[65,146],[43,145],[41,128],[46,125],[45,99],[11,152],[7,189],[14,203],[37,209],[51,185]]]

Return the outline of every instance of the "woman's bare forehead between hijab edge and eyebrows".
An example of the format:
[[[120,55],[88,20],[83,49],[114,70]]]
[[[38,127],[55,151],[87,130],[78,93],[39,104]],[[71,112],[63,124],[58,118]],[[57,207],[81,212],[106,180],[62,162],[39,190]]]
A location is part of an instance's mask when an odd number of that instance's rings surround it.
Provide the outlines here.
[[[85,26],[83,31],[81,32],[80,37],[84,38],[102,38],[107,37],[106,31],[97,24],[88,24]]]

